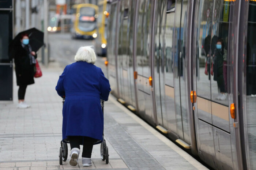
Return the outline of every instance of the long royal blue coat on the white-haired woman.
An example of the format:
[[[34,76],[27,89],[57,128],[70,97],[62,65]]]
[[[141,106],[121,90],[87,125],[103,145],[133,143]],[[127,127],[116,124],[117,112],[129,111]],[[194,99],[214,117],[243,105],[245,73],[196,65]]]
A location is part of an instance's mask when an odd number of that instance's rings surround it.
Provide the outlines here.
[[[65,67],[55,89],[59,96],[65,96],[63,140],[68,142],[68,136],[86,136],[97,139],[94,144],[102,142],[100,99],[108,100],[111,89],[101,68],[82,61],[72,63]]]

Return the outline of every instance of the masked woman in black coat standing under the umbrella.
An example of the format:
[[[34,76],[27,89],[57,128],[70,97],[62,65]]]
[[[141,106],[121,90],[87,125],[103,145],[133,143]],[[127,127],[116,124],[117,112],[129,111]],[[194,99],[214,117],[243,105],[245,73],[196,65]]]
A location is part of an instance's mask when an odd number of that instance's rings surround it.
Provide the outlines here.
[[[29,44],[29,36],[23,34],[20,37],[20,43],[17,43],[14,51],[14,63],[17,85],[19,86],[18,98],[19,104],[18,108],[28,108],[30,107],[25,101],[25,93],[27,85],[34,84],[34,74],[35,74],[35,63],[37,55],[32,51]]]

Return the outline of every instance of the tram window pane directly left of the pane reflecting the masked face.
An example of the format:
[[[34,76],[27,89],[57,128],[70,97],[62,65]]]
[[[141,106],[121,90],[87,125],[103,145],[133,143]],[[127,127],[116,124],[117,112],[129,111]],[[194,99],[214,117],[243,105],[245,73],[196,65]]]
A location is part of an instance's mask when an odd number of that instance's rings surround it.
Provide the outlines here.
[[[199,1],[197,40],[196,40],[196,78],[197,95],[211,99],[210,44],[212,23],[212,1]],[[202,55],[202,51],[206,55]]]

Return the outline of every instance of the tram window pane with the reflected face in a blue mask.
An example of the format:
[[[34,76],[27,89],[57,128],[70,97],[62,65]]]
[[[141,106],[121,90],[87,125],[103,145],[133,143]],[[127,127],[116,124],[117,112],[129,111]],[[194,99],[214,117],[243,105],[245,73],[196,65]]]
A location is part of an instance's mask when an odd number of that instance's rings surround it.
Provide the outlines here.
[[[230,2],[215,0],[211,39],[211,98],[223,104],[227,100],[227,40]]]

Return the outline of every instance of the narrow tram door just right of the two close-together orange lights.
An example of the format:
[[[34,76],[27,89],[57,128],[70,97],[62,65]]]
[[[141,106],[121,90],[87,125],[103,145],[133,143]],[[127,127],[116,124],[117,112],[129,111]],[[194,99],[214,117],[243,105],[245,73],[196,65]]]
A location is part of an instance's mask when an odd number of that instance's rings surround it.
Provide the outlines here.
[[[157,112],[157,124],[168,129],[167,113],[165,107],[165,39],[164,29],[166,22],[167,1],[159,0],[155,3],[155,42],[154,42],[154,90]]]

